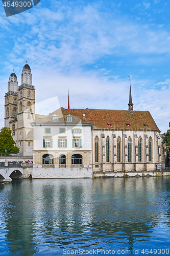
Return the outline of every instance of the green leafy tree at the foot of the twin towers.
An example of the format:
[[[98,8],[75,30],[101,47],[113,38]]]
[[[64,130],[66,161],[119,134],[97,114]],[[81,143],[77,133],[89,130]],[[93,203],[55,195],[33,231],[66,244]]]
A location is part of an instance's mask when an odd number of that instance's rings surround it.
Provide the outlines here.
[[[15,144],[11,130],[8,127],[3,127],[0,132],[0,155],[5,156],[5,150],[7,150],[7,155],[19,153],[19,147]]]

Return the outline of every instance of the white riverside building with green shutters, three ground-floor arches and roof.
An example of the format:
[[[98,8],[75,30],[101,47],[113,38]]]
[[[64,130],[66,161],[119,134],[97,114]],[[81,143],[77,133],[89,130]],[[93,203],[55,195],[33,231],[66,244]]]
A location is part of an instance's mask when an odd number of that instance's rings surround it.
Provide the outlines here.
[[[60,108],[32,126],[33,178],[92,178],[91,123]]]

